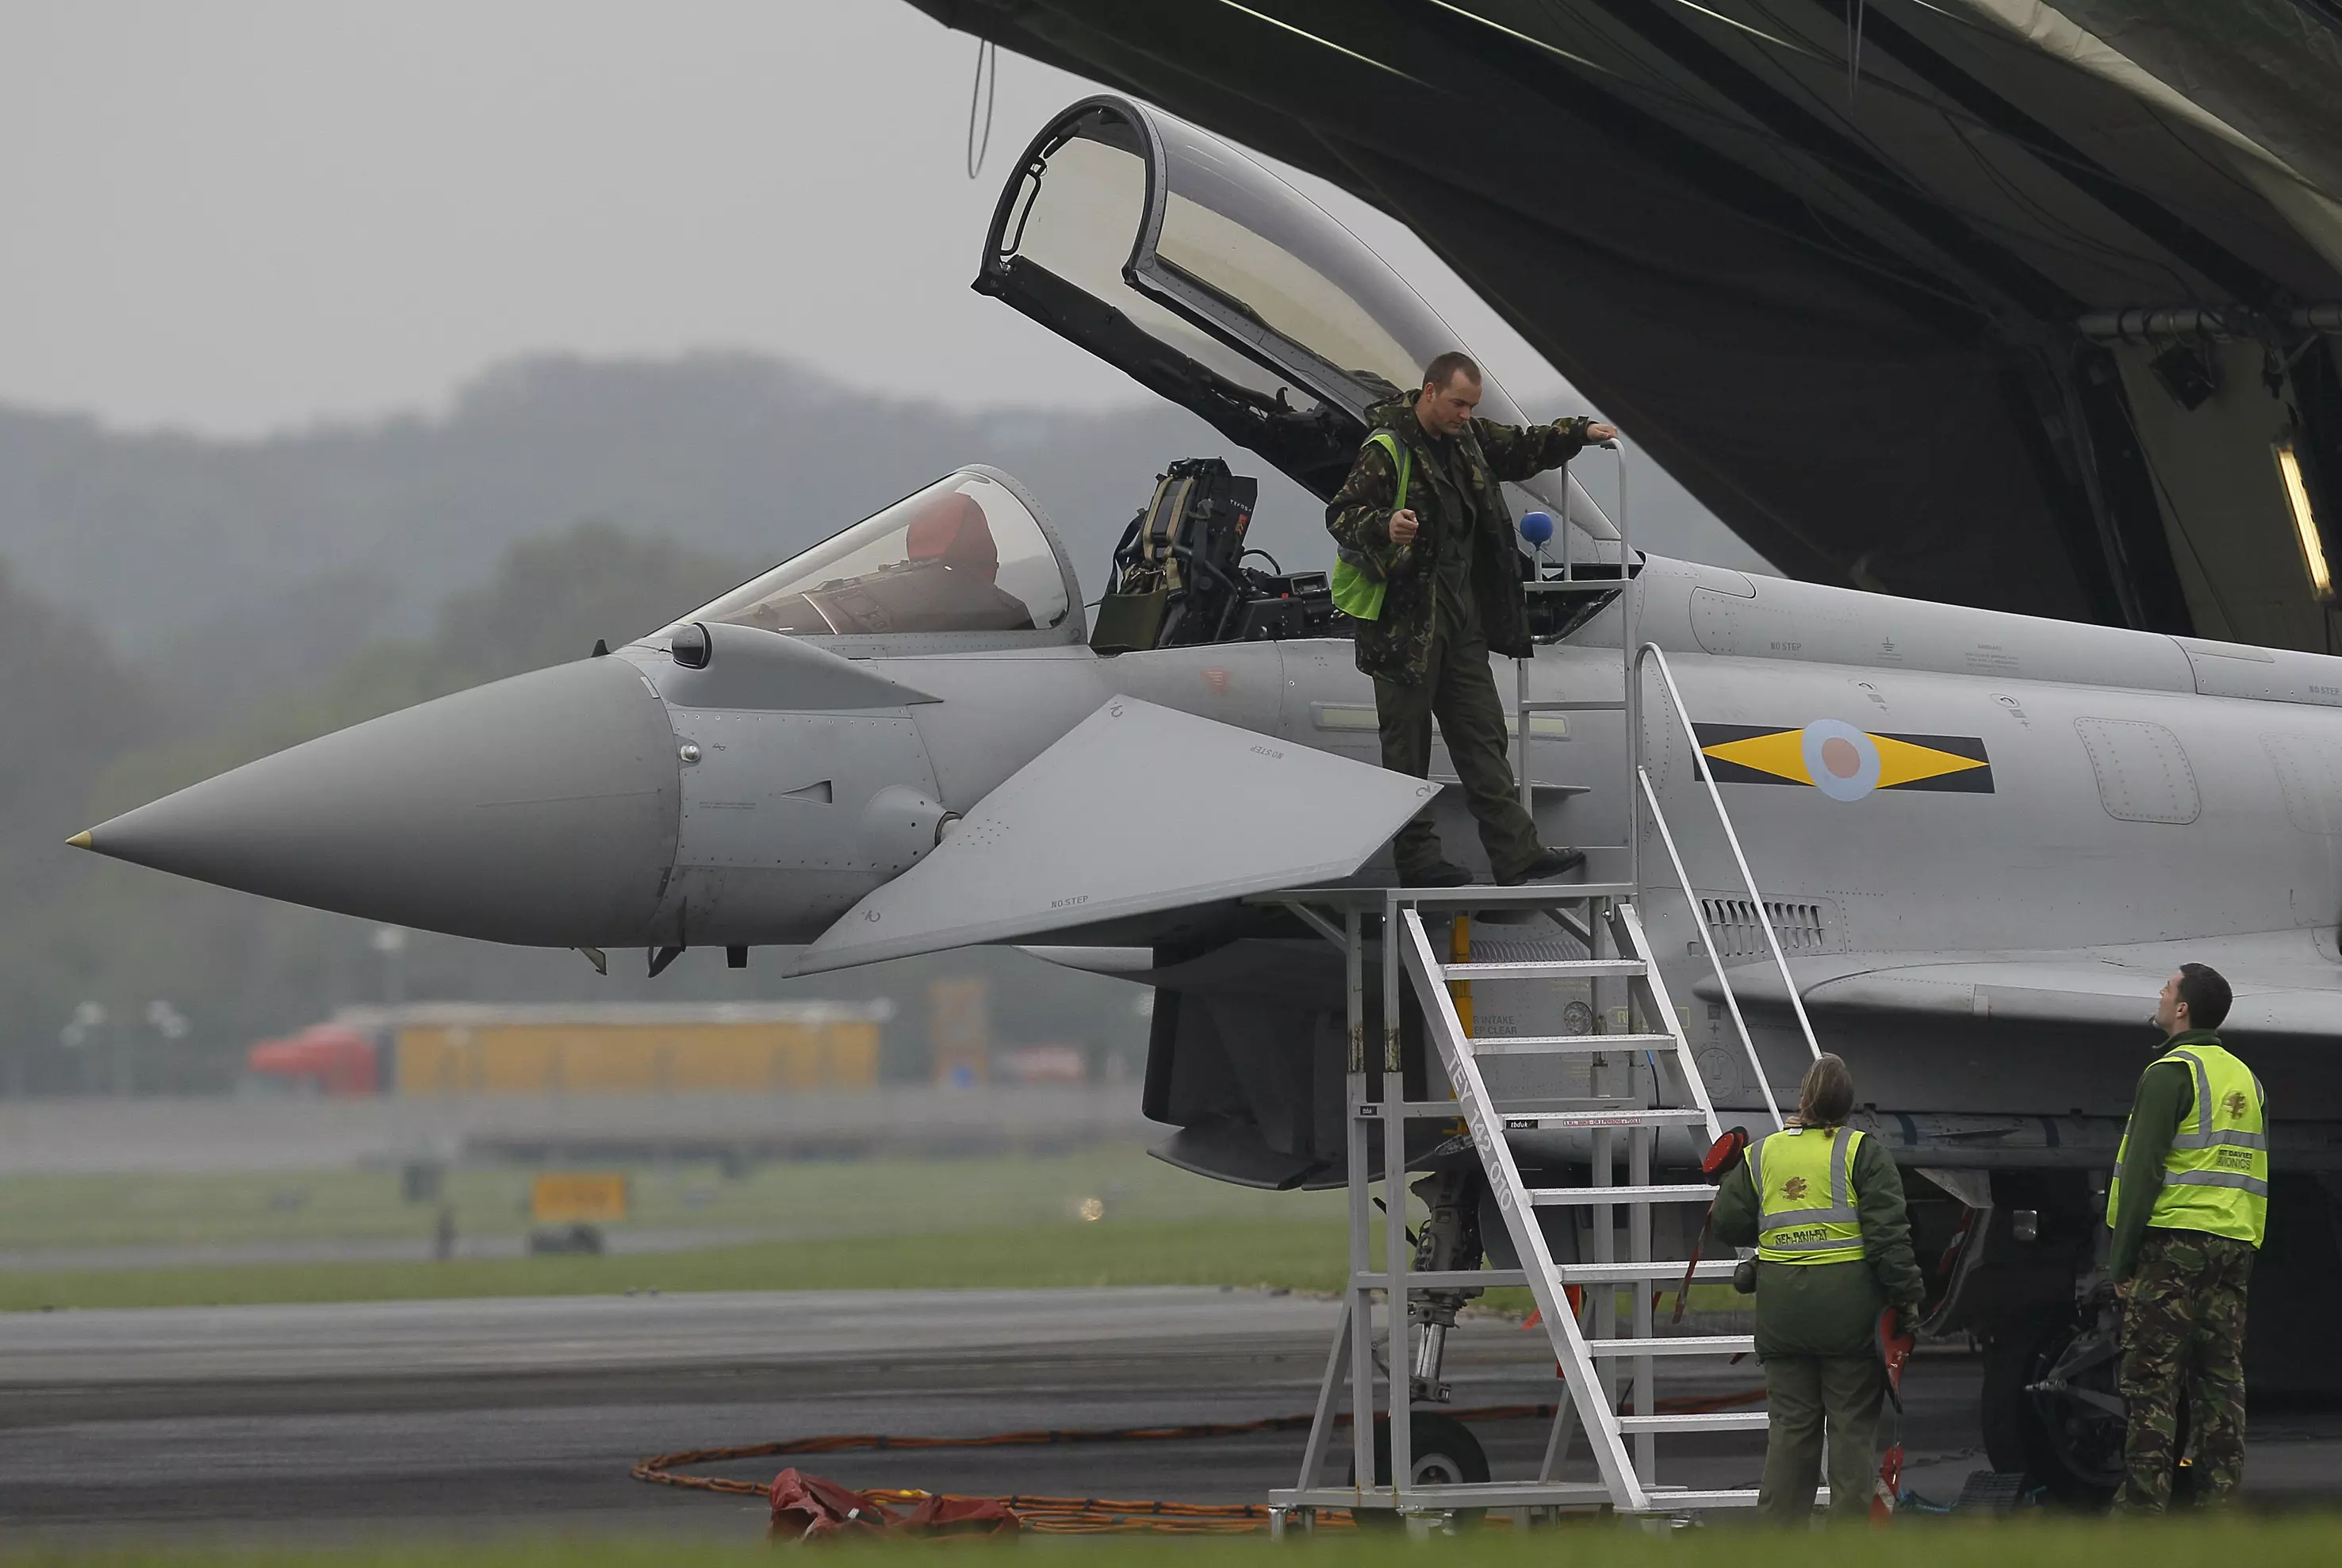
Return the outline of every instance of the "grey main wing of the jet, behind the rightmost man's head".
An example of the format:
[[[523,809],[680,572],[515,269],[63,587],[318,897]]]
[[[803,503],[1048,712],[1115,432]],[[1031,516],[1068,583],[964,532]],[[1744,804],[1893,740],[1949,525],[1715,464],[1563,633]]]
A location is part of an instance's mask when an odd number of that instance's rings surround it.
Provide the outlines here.
[[[2199,942],[2131,942],[2070,952],[1838,954],[1789,961],[1813,1010],[1986,1017],[2028,1024],[2145,1027],[2180,963],[2211,963],[2237,991],[2223,1034],[2342,1036],[2342,963],[2316,933],[2265,930]],[[1742,1001],[1787,1005],[1780,970],[1728,970]],[[1719,1001],[1714,977],[1693,994]]]

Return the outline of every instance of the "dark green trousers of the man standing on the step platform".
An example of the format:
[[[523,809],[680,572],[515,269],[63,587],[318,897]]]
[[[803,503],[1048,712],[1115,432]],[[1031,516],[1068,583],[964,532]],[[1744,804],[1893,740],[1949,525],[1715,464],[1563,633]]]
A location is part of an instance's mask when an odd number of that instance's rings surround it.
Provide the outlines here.
[[[1431,776],[1431,720],[1464,780],[1464,804],[1480,823],[1480,846],[1499,879],[1520,877],[1543,853],[1536,823],[1520,806],[1513,785],[1511,736],[1497,677],[1487,668],[1487,638],[1475,619],[1457,626],[1443,619],[1431,633],[1424,677],[1412,684],[1375,677],[1375,720],[1382,729],[1382,766],[1412,778]],[[1415,813],[1391,844],[1401,874],[1426,872],[1443,860],[1431,806]]]

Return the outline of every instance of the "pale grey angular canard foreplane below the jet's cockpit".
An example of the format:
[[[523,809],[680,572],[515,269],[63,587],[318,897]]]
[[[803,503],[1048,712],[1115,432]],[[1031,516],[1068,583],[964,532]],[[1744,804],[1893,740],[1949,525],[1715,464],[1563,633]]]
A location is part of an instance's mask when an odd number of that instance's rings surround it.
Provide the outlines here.
[[[838,916],[794,973],[1333,881],[1436,790],[1115,696]]]

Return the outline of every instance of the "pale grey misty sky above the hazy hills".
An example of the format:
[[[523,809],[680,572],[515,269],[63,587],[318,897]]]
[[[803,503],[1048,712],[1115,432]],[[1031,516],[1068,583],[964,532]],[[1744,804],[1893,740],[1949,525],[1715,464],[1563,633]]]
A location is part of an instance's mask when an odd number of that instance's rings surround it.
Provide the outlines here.
[[[897,0],[0,0],[0,401],[258,434],[539,349],[749,347],[956,405],[1148,394],[970,293],[1089,84]],[[1539,413],[1571,398],[1401,225],[1295,176]]]

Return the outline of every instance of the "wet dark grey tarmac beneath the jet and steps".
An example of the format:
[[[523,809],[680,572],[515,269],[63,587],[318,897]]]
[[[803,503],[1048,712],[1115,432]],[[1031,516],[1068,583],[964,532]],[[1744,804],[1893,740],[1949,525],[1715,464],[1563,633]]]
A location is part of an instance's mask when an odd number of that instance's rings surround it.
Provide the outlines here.
[[[1304,1413],[1335,1305],[1213,1289],[806,1291],[164,1308],[0,1320],[0,1528],[281,1540],[564,1530],[756,1540],[763,1507],[649,1486],[644,1455],[829,1432],[981,1434]],[[1557,1397],[1541,1336],[1466,1322],[1457,1404]],[[1979,1362],[1909,1373],[1906,1481],[1984,1470]],[[1754,1364],[1677,1371],[1728,1395]],[[1475,1425],[1534,1474],[1539,1420]],[[1258,1502],[1300,1432],[1201,1441],[831,1453],[850,1486]],[[1579,1458],[1564,1470],[1586,1472]],[[1761,1434],[1668,1439],[1660,1477],[1752,1484]],[[787,1460],[707,1467],[768,1479]],[[1342,1453],[1333,1460],[1340,1479]],[[2255,1491],[2342,1498],[2342,1413],[2255,1423]]]

